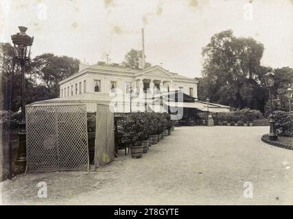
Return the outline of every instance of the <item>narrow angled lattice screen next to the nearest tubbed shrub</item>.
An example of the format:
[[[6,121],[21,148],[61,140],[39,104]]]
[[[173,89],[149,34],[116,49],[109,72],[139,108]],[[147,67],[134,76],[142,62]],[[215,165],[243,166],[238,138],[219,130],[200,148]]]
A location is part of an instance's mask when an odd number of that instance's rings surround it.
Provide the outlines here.
[[[114,115],[108,105],[97,104],[95,168],[112,162],[115,155]]]

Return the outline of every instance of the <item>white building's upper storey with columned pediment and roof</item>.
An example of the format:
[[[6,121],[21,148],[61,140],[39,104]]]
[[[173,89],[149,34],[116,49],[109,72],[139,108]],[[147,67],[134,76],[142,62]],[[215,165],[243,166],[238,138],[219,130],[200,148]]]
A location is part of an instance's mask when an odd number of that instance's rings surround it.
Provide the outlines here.
[[[171,73],[161,66],[150,68],[127,68],[117,64],[80,64],[78,73],[60,81],[60,98],[83,93],[129,94],[130,90],[154,93],[179,90],[198,97],[198,80]]]

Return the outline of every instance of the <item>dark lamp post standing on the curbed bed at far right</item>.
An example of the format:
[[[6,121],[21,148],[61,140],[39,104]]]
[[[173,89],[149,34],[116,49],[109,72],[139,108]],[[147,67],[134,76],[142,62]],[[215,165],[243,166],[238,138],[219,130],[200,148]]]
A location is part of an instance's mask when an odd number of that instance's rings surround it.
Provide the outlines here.
[[[265,82],[266,87],[270,90],[270,133],[269,138],[272,141],[275,141],[278,139],[278,136],[276,134],[276,131],[274,129],[274,115],[272,114],[272,87],[274,86],[274,73],[266,73],[265,75]]]

